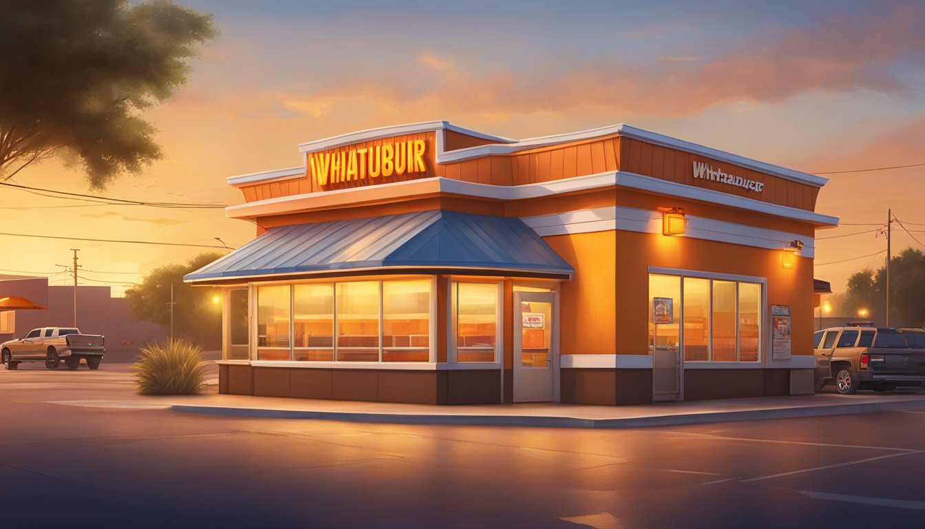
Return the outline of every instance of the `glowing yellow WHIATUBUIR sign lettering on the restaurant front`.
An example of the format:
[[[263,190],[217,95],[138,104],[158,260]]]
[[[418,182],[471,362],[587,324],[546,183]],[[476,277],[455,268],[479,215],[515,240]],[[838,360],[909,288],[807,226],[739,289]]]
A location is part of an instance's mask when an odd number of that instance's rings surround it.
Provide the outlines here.
[[[425,172],[424,140],[393,142],[362,149],[312,153],[309,164],[318,185]]]

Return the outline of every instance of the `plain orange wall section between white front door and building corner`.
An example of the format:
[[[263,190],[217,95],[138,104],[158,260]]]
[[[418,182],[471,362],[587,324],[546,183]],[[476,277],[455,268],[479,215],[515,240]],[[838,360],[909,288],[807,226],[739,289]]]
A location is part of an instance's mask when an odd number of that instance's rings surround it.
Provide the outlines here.
[[[574,233],[543,238],[575,270],[560,283],[560,352],[613,354],[618,330],[613,313],[616,276],[615,233]]]

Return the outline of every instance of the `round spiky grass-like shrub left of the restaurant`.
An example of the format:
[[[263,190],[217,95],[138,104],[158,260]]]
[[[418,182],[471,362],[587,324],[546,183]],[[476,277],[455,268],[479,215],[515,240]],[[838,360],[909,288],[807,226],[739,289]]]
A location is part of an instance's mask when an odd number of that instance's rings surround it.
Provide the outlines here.
[[[142,395],[195,395],[203,384],[203,348],[182,338],[143,346],[135,362]]]

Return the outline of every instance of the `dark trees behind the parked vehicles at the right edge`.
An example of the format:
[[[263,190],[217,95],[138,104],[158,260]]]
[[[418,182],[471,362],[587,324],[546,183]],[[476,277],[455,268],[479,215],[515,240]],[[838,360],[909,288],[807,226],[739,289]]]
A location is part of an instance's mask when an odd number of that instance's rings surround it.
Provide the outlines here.
[[[858,271],[848,278],[843,311],[868,309],[872,321],[885,322],[886,266]],[[925,322],[925,253],[906,248],[890,259],[890,325],[919,327]]]

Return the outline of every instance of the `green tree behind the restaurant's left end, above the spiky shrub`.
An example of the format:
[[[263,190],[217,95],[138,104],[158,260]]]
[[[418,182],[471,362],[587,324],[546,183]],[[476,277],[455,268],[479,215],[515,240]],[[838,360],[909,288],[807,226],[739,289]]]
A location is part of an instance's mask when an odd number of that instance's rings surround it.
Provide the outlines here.
[[[206,347],[222,344],[222,308],[215,297],[217,288],[191,286],[183,283],[183,276],[222,257],[218,253],[205,253],[191,258],[185,264],[171,264],[154,269],[144,276],[142,284],[129,288],[129,314],[135,320],[152,321],[165,329],[170,328],[170,285],[173,285],[174,334],[183,336]]]

